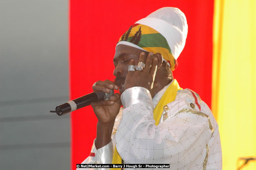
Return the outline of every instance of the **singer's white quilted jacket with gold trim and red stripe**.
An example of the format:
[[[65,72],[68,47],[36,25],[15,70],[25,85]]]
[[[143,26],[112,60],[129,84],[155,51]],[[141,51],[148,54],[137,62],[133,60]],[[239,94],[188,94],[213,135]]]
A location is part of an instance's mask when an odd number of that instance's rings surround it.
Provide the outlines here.
[[[155,126],[153,109],[168,86],[153,99],[142,87],[122,93],[124,109],[116,117],[111,142],[98,150],[93,143],[91,156],[82,163],[111,163],[116,146],[125,163],[168,163],[173,170],[221,170],[218,124],[195,92],[178,91]]]

